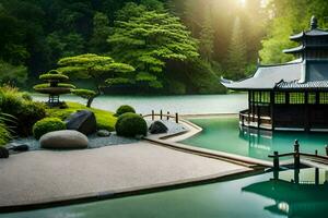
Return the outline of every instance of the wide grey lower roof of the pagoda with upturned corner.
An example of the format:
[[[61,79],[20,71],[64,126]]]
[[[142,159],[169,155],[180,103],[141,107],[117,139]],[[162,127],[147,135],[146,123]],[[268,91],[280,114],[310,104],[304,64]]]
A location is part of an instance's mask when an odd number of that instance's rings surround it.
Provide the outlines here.
[[[328,88],[328,61],[289,62],[261,65],[254,76],[238,82],[221,80],[230,89],[315,89]]]

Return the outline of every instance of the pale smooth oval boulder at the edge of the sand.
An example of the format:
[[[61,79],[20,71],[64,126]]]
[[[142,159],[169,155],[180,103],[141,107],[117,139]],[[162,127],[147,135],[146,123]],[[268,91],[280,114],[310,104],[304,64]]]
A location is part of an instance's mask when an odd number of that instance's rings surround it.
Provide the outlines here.
[[[87,137],[74,130],[49,132],[39,140],[40,147],[52,149],[87,148]]]

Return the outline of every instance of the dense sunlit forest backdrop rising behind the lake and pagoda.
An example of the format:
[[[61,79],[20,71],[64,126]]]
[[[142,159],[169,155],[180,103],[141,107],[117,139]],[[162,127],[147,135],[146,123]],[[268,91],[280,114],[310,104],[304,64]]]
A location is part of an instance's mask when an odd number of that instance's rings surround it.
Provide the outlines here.
[[[59,59],[97,53],[137,70],[106,85],[218,93],[210,80],[239,80],[254,72],[258,57],[292,60],[281,52],[294,46],[289,36],[307,29],[313,14],[327,27],[327,12],[325,0],[0,0],[0,77],[25,69],[34,83]]]

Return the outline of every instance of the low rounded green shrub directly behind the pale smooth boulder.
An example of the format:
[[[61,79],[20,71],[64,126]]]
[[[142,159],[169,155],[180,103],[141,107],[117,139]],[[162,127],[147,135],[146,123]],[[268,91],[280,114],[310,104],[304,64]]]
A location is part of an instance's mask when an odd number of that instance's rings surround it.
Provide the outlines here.
[[[44,134],[52,131],[66,130],[66,124],[59,118],[45,118],[33,125],[33,135],[39,140]]]

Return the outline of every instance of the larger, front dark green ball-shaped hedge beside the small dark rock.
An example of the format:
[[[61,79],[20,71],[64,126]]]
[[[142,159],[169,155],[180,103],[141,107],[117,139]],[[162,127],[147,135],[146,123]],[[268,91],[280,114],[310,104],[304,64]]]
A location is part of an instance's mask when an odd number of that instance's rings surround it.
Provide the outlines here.
[[[141,116],[127,112],[117,119],[115,130],[117,135],[134,137],[137,135],[147,135],[148,126]]]

